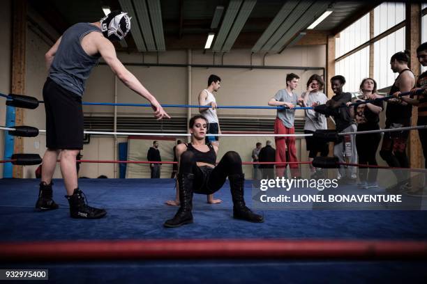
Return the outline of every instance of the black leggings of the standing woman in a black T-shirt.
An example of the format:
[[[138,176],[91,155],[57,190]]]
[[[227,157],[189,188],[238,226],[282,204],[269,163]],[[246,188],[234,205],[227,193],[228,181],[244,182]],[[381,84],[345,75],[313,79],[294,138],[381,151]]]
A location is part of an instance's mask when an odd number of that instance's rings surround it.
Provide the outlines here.
[[[358,131],[365,130],[375,130],[380,129],[380,127],[370,127],[369,129],[364,129],[358,127]],[[377,149],[380,145],[381,134],[373,133],[373,134],[359,134],[356,135],[356,148],[357,148],[357,156],[359,158],[358,163],[370,166],[377,166],[377,159],[375,156],[377,155]],[[366,168],[363,166],[359,167],[359,178],[361,182],[376,182],[377,181],[377,168]]]

